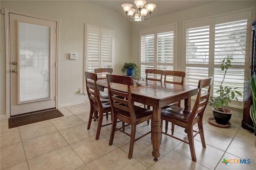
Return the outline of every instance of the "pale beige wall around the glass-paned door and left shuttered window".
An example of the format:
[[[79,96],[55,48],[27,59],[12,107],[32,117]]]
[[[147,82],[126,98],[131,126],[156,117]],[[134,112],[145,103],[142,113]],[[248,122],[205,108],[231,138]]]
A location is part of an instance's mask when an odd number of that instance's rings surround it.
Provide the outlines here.
[[[115,30],[114,73],[121,74],[124,61],[130,60],[131,23],[118,12],[87,1],[0,1],[1,9],[25,12],[60,21],[59,40],[59,106],[82,103],[86,96],[77,93],[84,77],[84,24]],[[5,48],[4,15],[1,14],[1,45]],[[78,59],[69,60],[69,53],[78,53]],[[6,56],[0,52],[1,107],[6,115]]]

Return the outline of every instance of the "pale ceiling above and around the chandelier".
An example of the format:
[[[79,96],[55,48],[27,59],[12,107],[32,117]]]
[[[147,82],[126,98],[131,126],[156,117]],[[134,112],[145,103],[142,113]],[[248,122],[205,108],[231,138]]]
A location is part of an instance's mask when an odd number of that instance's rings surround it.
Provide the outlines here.
[[[156,8],[151,14],[151,18],[186,10],[196,6],[201,6],[216,0],[146,0],[147,4],[156,4]],[[122,4],[132,4],[136,8],[134,0],[90,0],[98,5],[116,10],[119,14],[126,17]]]

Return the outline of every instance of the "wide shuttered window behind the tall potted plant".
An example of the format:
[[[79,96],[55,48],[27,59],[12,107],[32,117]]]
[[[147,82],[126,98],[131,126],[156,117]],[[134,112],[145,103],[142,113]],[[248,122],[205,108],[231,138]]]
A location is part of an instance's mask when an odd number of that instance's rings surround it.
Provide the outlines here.
[[[224,71],[220,69],[222,59],[233,55],[232,67],[228,69],[222,85],[238,87],[244,91],[245,59],[249,54],[246,47],[249,38],[246,35],[251,10],[184,24],[186,45],[186,85],[197,85],[198,80],[213,76],[213,96],[217,96]],[[247,50],[248,51],[248,50]],[[237,96],[242,106],[243,96]]]

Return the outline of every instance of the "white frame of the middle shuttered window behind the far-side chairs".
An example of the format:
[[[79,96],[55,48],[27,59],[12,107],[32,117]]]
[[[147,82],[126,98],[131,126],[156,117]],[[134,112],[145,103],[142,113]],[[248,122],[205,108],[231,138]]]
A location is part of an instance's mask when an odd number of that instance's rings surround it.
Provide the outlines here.
[[[157,34],[158,33],[164,33],[164,32],[174,32],[174,47],[173,47],[173,63],[157,63]],[[140,61],[139,61],[139,73],[141,73],[141,36],[145,36],[145,35],[150,35],[150,34],[154,34],[154,63],[150,63],[149,65],[154,66],[154,69],[157,69],[157,65],[170,65],[173,66],[173,69],[177,69],[178,68],[178,23],[174,23],[174,24],[168,24],[165,26],[161,26],[161,27],[155,27],[155,28],[150,28],[150,29],[146,29],[146,30],[140,30],[139,32],[139,56],[140,56]]]

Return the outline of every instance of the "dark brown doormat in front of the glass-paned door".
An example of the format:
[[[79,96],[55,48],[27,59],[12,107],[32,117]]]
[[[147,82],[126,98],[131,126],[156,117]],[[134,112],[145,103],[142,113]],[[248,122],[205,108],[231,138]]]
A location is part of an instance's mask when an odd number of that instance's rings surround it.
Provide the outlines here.
[[[58,109],[54,109],[50,111],[32,113],[24,116],[12,117],[8,119],[9,128],[28,125],[30,123],[36,123],[36,122],[45,121],[48,119],[53,119],[53,118],[62,117],[62,116],[64,115]]]

